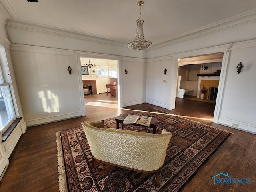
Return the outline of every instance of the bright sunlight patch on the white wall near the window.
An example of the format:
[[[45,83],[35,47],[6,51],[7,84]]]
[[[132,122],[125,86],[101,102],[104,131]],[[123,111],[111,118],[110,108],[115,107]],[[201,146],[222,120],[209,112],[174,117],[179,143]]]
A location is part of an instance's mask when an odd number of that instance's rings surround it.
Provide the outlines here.
[[[42,108],[44,112],[60,112],[59,98],[57,94],[52,93],[50,90],[47,91],[47,98],[45,97],[44,91],[39,91],[38,96],[42,100]]]

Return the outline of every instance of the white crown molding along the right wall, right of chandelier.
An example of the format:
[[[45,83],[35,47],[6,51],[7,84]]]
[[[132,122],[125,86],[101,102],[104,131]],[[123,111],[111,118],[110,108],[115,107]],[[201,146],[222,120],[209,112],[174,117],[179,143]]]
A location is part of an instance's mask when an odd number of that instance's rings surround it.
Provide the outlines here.
[[[234,28],[234,27],[249,24],[252,22],[256,22],[256,9],[250,10],[248,12],[244,12],[242,14],[238,14],[236,16],[233,16],[218,22],[214,22],[212,24],[203,26],[201,28],[197,28],[195,30],[191,30],[186,33],[182,33],[178,36],[174,36],[172,39],[153,45],[150,49],[153,50],[156,48],[184,42],[194,38],[200,38],[202,36],[224,31],[229,28]]]

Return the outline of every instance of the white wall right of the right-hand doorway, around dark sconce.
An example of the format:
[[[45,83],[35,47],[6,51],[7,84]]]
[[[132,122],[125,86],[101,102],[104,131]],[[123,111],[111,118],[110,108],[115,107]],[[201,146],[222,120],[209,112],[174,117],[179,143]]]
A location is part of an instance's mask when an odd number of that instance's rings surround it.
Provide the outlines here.
[[[256,42],[234,44],[230,50],[219,123],[256,133]],[[236,66],[242,62],[240,74]],[[237,128],[237,127],[234,127]]]

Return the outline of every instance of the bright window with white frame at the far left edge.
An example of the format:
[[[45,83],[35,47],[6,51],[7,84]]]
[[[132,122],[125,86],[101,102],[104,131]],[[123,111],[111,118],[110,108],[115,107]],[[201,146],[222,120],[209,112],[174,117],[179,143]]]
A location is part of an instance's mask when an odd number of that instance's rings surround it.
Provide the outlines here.
[[[7,64],[4,47],[1,46],[1,70],[0,70],[0,131],[3,133],[16,119],[10,85],[5,83],[3,65]]]

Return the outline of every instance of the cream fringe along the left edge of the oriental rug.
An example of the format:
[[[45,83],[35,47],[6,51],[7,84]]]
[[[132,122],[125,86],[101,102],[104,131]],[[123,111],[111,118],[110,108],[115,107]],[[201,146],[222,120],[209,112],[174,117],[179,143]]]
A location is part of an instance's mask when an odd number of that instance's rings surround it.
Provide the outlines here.
[[[59,173],[59,190],[60,192],[67,192],[66,183],[66,172],[65,164],[63,160],[62,145],[61,145],[61,135],[60,132],[56,132],[56,142],[57,142],[57,161],[58,161],[58,173]]]

